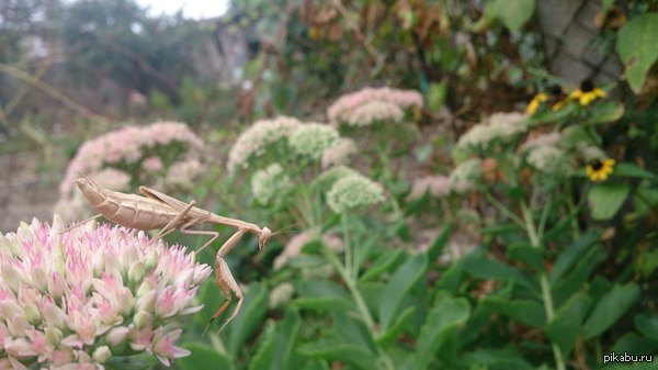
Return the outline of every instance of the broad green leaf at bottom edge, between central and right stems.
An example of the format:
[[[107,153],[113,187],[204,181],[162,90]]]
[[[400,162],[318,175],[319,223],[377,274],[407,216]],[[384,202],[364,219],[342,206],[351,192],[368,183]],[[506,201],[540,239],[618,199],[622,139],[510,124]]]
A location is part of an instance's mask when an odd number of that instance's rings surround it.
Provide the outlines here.
[[[463,325],[470,314],[470,306],[465,299],[441,298],[428,313],[428,318],[420,329],[416,348],[413,369],[427,369],[434,354]]]

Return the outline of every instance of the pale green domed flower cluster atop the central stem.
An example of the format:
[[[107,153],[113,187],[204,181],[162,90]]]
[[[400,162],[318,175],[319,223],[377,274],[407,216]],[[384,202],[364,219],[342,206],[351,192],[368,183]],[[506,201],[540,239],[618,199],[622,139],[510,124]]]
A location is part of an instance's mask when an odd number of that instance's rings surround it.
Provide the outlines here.
[[[327,192],[327,203],[336,213],[344,213],[360,205],[371,205],[384,201],[381,184],[362,175],[352,175],[337,180]]]

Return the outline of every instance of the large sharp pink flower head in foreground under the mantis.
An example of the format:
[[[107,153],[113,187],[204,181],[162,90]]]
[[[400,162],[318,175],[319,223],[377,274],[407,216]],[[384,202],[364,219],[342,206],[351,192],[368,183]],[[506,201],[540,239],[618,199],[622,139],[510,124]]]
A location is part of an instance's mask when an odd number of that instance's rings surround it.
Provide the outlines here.
[[[88,224],[60,235],[34,220],[0,234],[0,369],[104,369],[112,356],[149,352],[164,366],[178,316],[211,273],[181,246]]]

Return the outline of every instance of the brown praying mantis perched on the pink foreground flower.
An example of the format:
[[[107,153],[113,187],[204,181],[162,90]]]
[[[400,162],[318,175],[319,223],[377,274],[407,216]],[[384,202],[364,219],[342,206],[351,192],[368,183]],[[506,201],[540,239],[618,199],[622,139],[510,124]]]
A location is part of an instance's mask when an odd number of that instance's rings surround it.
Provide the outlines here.
[[[216,215],[194,206],[196,203],[195,201],[185,203],[147,187],[139,187],[139,191],[145,197],[126,194],[105,189],[82,173],[80,173],[80,178],[76,180],[76,183],[78,184],[78,188],[80,188],[80,191],[82,191],[84,198],[87,198],[89,204],[100,213],[82,222],[82,224],[93,218],[104,216],[125,227],[141,231],[160,228],[160,232],[151,239],[151,243],[175,229],[180,229],[181,233],[184,234],[212,236],[212,238],[196,253],[201,253],[205,247],[211,245],[219,236],[219,233],[191,231],[188,228],[204,223],[236,227],[238,231],[224,243],[215,258],[215,283],[222,290],[222,293],[226,298],[226,302],[224,302],[219,310],[215,312],[211,322],[222,315],[228,307],[231,302],[231,291],[236,294],[238,304],[234,309],[231,315],[225,321],[224,325],[222,325],[222,328],[236,317],[242,305],[243,295],[224,257],[238,244],[242,235],[247,232],[258,236],[258,246],[259,249],[262,250],[268,243],[268,239],[272,236],[272,232],[268,227],[260,228],[258,225],[251,223]],[[71,227],[76,226],[77,225]]]

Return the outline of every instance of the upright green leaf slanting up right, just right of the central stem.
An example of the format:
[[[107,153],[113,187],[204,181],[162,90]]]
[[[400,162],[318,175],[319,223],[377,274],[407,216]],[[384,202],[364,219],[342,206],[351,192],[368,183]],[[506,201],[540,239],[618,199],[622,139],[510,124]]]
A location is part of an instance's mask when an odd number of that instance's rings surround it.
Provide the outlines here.
[[[427,256],[418,254],[407,259],[390,277],[379,296],[379,324],[383,332],[388,328],[395,315],[401,310],[405,295],[424,274],[427,268]]]

